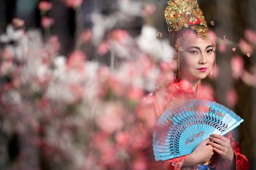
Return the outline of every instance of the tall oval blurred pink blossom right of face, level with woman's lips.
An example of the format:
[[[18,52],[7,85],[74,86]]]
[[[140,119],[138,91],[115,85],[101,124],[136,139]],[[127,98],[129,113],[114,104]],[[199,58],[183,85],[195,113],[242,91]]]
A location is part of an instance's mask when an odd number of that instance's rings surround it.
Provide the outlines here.
[[[243,73],[243,59],[240,56],[234,56],[231,59],[232,75],[238,79]]]

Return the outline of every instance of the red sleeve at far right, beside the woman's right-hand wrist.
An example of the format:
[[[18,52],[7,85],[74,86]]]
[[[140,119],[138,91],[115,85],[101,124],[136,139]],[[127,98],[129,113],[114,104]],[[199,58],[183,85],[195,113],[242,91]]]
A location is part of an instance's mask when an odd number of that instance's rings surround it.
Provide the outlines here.
[[[227,138],[230,140],[231,146],[233,148],[234,154],[236,155],[236,169],[237,170],[243,170],[243,169],[249,169],[250,163],[246,159],[245,155],[241,154],[241,147],[237,141],[232,137],[233,131],[230,131],[227,134]]]

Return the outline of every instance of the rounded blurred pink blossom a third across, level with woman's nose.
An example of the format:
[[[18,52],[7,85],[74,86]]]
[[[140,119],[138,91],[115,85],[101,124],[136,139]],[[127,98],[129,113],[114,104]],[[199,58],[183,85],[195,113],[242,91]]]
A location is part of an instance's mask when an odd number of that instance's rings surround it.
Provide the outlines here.
[[[80,50],[73,52],[67,60],[67,69],[81,70],[84,68],[86,56]]]

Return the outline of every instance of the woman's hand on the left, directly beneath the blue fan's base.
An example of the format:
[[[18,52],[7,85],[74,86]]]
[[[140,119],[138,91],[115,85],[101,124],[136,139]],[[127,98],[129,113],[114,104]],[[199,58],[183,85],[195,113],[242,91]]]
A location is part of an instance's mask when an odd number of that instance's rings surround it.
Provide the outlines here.
[[[207,143],[210,143],[209,138],[205,139],[203,142],[197,145],[195,150],[191,154],[187,155],[183,166],[208,162],[210,158],[212,158],[213,147],[211,145],[207,146]]]

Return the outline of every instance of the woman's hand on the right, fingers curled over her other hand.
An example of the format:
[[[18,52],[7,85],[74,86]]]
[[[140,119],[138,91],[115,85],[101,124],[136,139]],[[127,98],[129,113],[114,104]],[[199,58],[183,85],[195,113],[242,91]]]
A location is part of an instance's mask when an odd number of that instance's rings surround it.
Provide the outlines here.
[[[209,142],[209,145],[213,147],[213,150],[220,154],[221,157],[226,160],[226,163],[231,165],[234,158],[234,152],[229,139],[217,134],[210,135],[209,139],[213,141]]]

